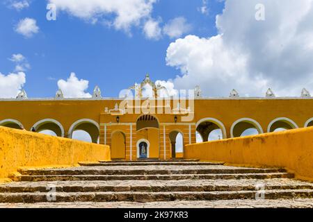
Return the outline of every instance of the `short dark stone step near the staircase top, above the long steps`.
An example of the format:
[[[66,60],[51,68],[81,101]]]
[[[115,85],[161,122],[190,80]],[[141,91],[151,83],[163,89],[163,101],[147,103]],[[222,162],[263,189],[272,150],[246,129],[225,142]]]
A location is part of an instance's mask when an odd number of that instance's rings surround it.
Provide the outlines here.
[[[82,167],[107,166],[217,166],[224,162],[79,162]]]

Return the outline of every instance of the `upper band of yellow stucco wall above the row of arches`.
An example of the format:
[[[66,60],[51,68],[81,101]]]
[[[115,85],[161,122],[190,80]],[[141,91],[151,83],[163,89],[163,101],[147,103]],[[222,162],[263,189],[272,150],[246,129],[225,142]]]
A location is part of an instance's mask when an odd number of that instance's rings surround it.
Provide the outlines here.
[[[115,103],[120,104],[121,101],[118,99],[0,101],[0,121],[16,119],[26,130],[30,130],[37,121],[55,119],[62,124],[67,137],[70,126],[79,119],[93,119],[97,123],[115,123],[116,117],[104,114],[104,109],[113,109]],[[287,117],[299,127],[303,127],[305,122],[313,117],[313,99],[195,99],[194,102],[194,119],[186,123],[197,123],[207,117],[218,119],[224,124],[227,137],[230,137],[232,123],[241,118],[255,119],[266,132],[268,123],[278,117]],[[120,117],[120,123],[136,123],[141,114],[125,114]],[[175,126],[174,116],[171,114],[154,116],[160,124],[173,123]],[[181,118],[178,117],[178,123],[180,121]]]

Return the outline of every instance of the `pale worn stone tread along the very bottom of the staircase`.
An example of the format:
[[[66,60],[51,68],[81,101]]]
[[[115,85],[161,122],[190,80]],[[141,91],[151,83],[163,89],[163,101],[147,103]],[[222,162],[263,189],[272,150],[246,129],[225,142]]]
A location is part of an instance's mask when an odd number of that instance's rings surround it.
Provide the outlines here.
[[[0,203],[0,208],[313,208],[310,198],[278,200],[181,200],[163,202]]]

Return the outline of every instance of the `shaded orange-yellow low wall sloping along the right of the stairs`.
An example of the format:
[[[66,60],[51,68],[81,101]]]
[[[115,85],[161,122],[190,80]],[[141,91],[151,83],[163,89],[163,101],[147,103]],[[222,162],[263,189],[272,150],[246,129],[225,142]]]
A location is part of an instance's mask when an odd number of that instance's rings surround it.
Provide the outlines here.
[[[285,167],[313,181],[313,127],[190,144],[184,157],[249,167]]]

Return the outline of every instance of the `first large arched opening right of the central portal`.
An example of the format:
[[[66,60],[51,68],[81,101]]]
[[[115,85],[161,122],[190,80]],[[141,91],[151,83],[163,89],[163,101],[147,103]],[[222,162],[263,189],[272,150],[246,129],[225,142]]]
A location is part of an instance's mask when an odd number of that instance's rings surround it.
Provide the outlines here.
[[[196,123],[196,132],[201,135],[201,142],[227,138],[224,124],[214,118],[205,118],[198,121],[198,123]],[[199,136],[198,141],[200,141]]]

